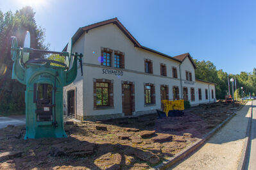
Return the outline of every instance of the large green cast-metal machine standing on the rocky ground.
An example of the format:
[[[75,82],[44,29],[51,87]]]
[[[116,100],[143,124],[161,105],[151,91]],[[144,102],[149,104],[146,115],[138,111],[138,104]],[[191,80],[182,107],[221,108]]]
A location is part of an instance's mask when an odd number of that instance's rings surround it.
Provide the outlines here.
[[[30,59],[30,53],[59,54],[65,63],[50,59]],[[26,135],[24,139],[40,137],[67,137],[63,120],[63,87],[71,84],[77,75],[77,60],[83,75],[83,54],[72,52],[72,40],[67,52],[55,52],[30,48],[30,33],[27,32],[24,47],[17,46],[12,37],[12,79],[26,84]],[[58,66],[53,66],[55,63]]]

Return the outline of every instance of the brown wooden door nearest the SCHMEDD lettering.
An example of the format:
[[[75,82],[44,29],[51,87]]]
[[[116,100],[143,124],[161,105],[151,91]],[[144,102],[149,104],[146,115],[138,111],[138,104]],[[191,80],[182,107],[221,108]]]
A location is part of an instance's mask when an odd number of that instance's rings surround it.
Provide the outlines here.
[[[123,84],[124,89],[124,116],[132,115],[132,97],[130,84]]]

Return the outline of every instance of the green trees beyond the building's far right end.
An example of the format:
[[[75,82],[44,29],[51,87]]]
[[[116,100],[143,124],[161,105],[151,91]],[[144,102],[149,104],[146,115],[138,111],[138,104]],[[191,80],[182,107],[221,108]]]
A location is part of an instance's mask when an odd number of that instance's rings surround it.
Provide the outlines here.
[[[236,79],[237,90],[234,92],[237,98],[241,97],[241,87],[243,87],[244,95],[248,96],[256,93],[256,68],[253,68],[253,72],[241,72],[240,74],[228,74],[223,70],[217,70],[216,66],[210,61],[198,61],[194,59],[197,69],[195,70],[196,79],[203,81],[209,81],[216,83],[216,98],[225,98],[228,95],[228,79]],[[232,95],[232,83],[230,82],[230,95]]]

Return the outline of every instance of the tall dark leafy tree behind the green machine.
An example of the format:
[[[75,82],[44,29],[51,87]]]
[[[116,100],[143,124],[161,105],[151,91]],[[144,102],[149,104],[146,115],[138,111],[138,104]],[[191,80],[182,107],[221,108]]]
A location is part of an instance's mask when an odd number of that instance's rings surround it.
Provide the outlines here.
[[[26,6],[15,13],[0,10],[0,111],[24,112],[24,91],[26,87],[12,80],[12,64],[10,56],[11,36],[16,36],[18,45],[23,46],[26,31],[30,31],[31,47],[47,49],[44,45],[45,31],[35,22],[35,12]],[[30,55],[31,58],[35,56]]]

